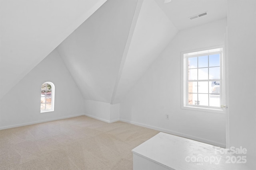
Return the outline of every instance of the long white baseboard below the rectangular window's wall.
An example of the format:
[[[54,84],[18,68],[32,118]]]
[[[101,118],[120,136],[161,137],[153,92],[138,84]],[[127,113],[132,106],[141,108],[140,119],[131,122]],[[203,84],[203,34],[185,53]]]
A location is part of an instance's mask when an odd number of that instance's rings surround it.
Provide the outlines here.
[[[168,133],[168,134],[171,134],[171,135],[176,135],[176,136],[179,136],[179,137],[192,139],[194,141],[207,143],[207,144],[214,145],[214,146],[217,146],[217,147],[226,148],[226,144],[224,144],[224,143],[218,143],[216,141],[211,141],[211,140],[208,140],[208,139],[203,139],[203,138],[200,138],[200,137],[195,137],[195,136],[187,135],[187,134],[184,134],[184,133],[170,131],[170,130],[167,130],[167,129],[162,129],[162,128],[159,128],[159,127],[154,127],[154,126],[151,126],[151,125],[146,125],[146,124],[138,123],[138,122],[134,122],[134,121],[127,121],[127,120],[124,120],[124,119],[120,119],[120,121],[124,121],[126,123],[131,123],[131,124],[134,124],[134,125],[146,127],[146,128],[149,128],[149,129],[154,129],[154,130],[161,131],[161,132],[164,132],[164,133]]]

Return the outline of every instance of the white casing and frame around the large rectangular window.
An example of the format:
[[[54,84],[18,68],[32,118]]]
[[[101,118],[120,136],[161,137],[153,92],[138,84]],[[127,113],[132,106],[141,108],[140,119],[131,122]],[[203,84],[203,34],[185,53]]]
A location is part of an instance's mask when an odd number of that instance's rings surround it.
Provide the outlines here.
[[[221,49],[218,51],[217,49]],[[220,53],[220,105],[225,106],[226,95],[225,95],[225,74],[224,74],[224,46],[208,47],[204,49],[197,49],[192,51],[184,51],[181,53],[181,72],[182,72],[182,98],[181,104],[182,109],[196,110],[196,111],[207,111],[214,113],[225,113],[226,109],[222,107],[214,106],[200,106],[200,105],[189,105],[188,104],[188,57],[199,57],[203,55]],[[197,80],[198,81],[198,80]]]

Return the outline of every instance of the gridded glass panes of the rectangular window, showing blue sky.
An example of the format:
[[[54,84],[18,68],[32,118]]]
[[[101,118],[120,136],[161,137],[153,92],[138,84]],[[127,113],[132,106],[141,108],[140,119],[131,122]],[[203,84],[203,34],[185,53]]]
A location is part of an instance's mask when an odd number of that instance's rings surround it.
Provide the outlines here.
[[[220,107],[220,53],[187,57],[188,104]]]

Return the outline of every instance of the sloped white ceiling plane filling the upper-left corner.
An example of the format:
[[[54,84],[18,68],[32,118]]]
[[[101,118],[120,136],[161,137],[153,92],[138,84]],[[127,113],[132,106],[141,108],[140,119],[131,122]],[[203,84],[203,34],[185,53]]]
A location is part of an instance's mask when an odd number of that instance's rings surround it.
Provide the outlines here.
[[[106,0],[1,0],[0,98]]]

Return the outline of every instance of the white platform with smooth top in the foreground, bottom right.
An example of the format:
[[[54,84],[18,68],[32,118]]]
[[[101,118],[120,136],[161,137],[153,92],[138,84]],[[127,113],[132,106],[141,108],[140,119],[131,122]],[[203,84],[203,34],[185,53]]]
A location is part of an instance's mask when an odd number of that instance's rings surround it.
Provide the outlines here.
[[[144,166],[141,164],[146,162],[143,159],[147,159],[171,170],[256,170],[254,166],[247,166],[248,160],[247,163],[242,163],[242,160],[241,163],[234,162],[234,156],[238,160],[239,156],[246,154],[226,154],[219,149],[213,145],[160,132],[132,150],[134,158],[140,159],[134,160],[134,169],[138,169],[135,167],[138,164],[142,169]],[[233,157],[234,163],[228,160],[229,156]]]

